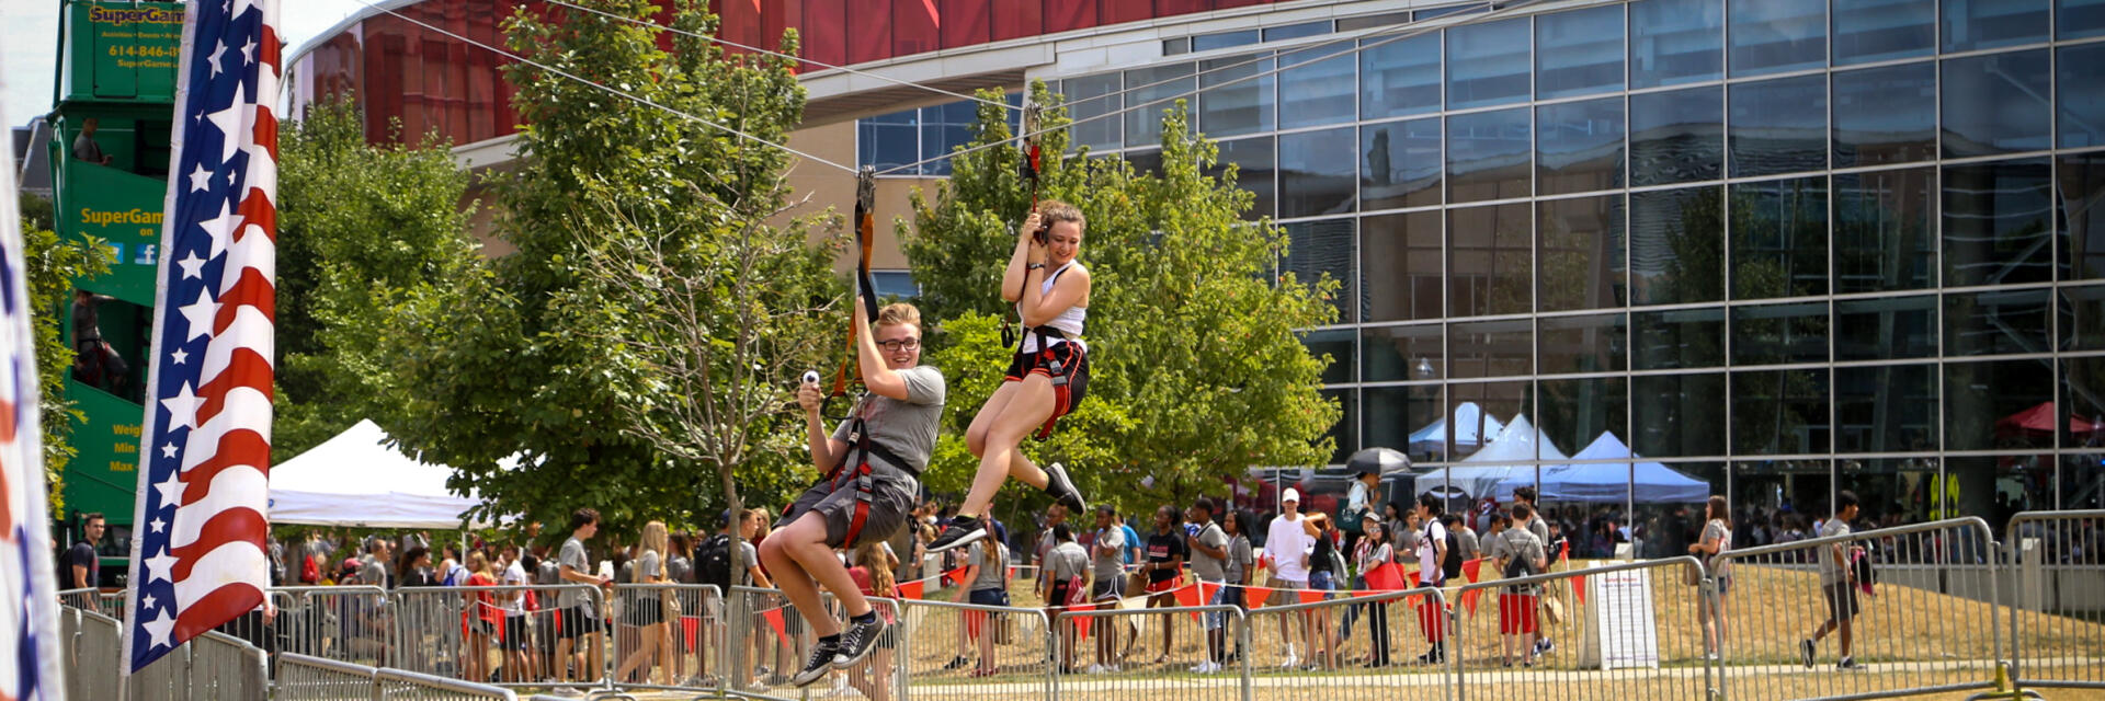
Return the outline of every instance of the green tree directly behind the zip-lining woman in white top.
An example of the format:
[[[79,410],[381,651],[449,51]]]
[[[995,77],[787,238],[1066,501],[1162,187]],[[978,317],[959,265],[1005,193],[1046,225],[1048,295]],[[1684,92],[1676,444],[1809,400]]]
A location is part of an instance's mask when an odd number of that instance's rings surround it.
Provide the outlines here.
[[[1052,101],[1042,84],[1031,91],[1034,103]],[[1044,126],[1065,122],[1044,116]],[[1223,478],[1255,465],[1320,463],[1339,419],[1320,394],[1330,358],[1301,343],[1303,328],[1337,318],[1337,280],[1280,274],[1286,236],[1269,219],[1242,221],[1252,196],[1236,187],[1238,171],[1202,175],[1219,149],[1189,135],[1181,105],[1162,124],[1162,175],[1067,154],[1063,131],[1048,133],[1036,192],[1088,217],[1082,261],[1095,278],[1088,400],[1036,453],[1076,465],[1084,493],[1128,509],[1221,493]],[[975,145],[1006,139],[1002,114],[983,107]],[[996,286],[1034,196],[1015,175],[1019,158],[1013,141],[954,158],[951,179],[933,200],[916,194],[914,223],[899,223],[924,314],[941,320],[930,364],[951,381],[928,474],[937,490],[962,490],[977,469],[964,429],[1010,352]]]

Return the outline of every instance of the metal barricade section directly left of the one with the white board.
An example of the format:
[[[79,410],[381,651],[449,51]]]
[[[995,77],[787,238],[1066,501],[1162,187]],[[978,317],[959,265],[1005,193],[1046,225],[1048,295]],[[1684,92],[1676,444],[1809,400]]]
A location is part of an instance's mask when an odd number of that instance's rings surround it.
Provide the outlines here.
[[[1452,638],[1446,594],[1274,589],[1246,615],[1252,699],[1448,697],[1434,648]]]

